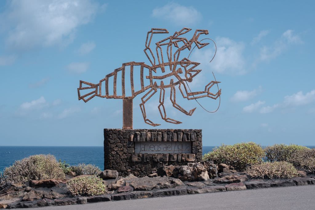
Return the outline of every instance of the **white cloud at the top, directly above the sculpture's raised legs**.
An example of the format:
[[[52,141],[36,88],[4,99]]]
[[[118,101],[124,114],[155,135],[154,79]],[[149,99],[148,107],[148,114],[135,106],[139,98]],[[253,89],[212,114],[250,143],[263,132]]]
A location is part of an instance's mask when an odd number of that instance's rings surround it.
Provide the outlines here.
[[[175,25],[192,25],[202,19],[201,13],[193,8],[178,3],[168,3],[163,7],[155,8],[152,16],[172,22]]]

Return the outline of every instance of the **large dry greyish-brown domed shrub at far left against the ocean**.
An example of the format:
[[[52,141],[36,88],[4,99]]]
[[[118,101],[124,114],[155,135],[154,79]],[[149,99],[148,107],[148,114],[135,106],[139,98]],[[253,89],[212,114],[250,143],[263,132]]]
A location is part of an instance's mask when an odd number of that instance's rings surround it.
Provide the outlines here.
[[[53,155],[33,155],[15,161],[4,169],[7,180],[15,183],[25,183],[29,180],[64,179],[65,173]]]

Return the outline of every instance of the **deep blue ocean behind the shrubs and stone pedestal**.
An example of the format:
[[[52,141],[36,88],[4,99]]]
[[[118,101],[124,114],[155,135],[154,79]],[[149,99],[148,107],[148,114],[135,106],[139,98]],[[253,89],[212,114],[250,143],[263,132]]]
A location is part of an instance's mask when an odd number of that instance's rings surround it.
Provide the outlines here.
[[[214,146],[203,146],[203,154]],[[0,171],[11,166],[15,160],[37,154],[51,154],[70,165],[94,164],[104,168],[104,147],[102,146],[0,146]]]

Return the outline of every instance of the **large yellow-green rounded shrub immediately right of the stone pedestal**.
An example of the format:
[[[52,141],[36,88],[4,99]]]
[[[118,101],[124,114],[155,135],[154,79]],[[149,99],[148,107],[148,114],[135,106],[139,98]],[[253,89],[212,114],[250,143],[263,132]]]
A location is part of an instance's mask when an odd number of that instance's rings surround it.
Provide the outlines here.
[[[248,142],[235,145],[222,144],[205,154],[203,160],[213,161],[215,164],[225,163],[236,170],[243,170],[247,164],[261,162],[264,156],[264,150],[260,145]]]

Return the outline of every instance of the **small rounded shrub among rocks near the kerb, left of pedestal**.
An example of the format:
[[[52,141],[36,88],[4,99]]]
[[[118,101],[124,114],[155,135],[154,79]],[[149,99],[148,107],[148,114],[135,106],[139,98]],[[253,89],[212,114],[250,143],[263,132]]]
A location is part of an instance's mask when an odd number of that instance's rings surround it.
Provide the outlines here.
[[[96,176],[77,177],[67,182],[72,195],[95,196],[106,193],[103,180]]]

